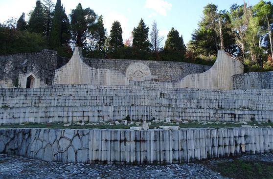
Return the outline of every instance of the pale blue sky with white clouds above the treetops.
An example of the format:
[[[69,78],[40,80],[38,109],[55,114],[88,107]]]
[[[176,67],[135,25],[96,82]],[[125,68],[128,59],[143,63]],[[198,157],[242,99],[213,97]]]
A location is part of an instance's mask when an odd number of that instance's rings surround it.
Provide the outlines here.
[[[251,5],[259,0],[246,0]],[[36,0],[0,0],[0,22],[10,17],[19,18],[35,6]],[[53,0],[55,2],[55,0]],[[203,7],[208,3],[218,5],[219,10],[229,9],[233,3],[243,4],[243,0],[62,0],[67,14],[80,2],[83,8],[90,7],[102,15],[108,32],[114,20],[121,23],[123,40],[128,39],[134,27],[142,18],[150,27],[153,20],[158,23],[159,33],[164,36],[174,27],[183,35],[187,43],[198,21]],[[11,11],[10,7],[13,11]]]

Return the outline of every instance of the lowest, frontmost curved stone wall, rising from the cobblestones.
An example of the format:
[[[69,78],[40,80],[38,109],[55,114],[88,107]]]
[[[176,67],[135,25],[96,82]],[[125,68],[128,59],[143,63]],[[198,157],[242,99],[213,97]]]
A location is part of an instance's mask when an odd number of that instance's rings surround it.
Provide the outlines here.
[[[154,163],[273,152],[273,129],[0,129],[0,153],[77,163]]]

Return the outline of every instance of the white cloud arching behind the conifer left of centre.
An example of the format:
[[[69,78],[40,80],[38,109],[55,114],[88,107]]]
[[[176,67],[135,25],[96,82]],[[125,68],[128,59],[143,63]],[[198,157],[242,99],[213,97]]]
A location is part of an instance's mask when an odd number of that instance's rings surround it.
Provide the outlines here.
[[[131,36],[130,29],[128,28],[128,19],[123,14],[119,12],[109,12],[103,19],[108,35],[110,35],[113,22],[117,20],[121,24],[123,41]]]

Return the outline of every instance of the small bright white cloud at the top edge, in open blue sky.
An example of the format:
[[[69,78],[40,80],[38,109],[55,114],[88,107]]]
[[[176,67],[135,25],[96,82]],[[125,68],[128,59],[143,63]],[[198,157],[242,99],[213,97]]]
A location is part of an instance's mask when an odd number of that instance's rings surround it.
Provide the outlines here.
[[[167,16],[167,10],[171,10],[172,4],[166,0],[146,0],[145,8],[154,9],[162,16]]]

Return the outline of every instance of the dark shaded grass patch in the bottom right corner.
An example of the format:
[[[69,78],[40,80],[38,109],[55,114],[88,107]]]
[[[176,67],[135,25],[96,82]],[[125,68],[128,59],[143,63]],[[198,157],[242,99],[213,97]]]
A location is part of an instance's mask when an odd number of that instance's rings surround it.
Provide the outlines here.
[[[232,179],[273,179],[273,163],[235,159],[213,164],[210,168]]]

